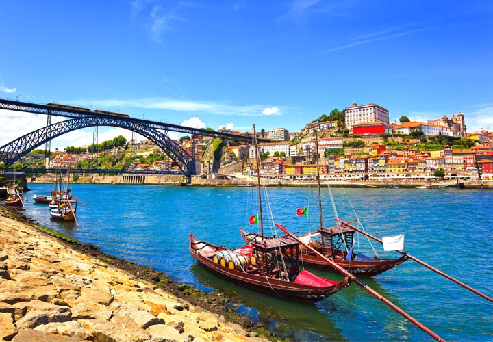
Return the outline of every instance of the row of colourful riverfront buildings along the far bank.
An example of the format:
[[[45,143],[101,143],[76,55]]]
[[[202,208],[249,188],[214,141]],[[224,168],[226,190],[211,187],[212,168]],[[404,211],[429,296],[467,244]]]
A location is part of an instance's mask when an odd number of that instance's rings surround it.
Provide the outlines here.
[[[444,170],[447,176],[493,179],[493,147],[489,144],[474,146],[470,150],[453,150],[451,146],[444,146],[442,151],[427,152],[409,147],[402,151],[388,151],[385,145],[371,144],[364,150],[368,155],[319,155],[321,177],[365,180],[431,178],[435,170]],[[312,155],[305,160],[313,159]],[[244,173],[255,175],[255,159],[250,160]],[[260,165],[261,176],[277,179],[314,179],[317,173],[316,163],[288,163],[279,157],[268,157]]]

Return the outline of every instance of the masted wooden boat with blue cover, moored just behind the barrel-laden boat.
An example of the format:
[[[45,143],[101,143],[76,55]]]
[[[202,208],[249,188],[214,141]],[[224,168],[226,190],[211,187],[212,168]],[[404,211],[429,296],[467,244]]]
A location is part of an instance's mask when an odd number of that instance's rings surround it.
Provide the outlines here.
[[[316,140],[316,150],[318,150],[318,137]],[[318,153],[317,153],[317,170],[318,167]],[[336,226],[325,228],[322,220],[322,202],[320,196],[320,174],[318,174],[318,209],[320,212],[320,228],[316,231],[301,235],[300,239],[303,239],[309,246],[312,246],[314,250],[323,254],[324,258],[318,254],[312,252],[307,248],[302,248],[300,253],[300,259],[307,267],[314,267],[318,269],[325,269],[331,272],[339,273],[338,269],[333,266],[333,263],[346,269],[355,276],[376,276],[382,272],[388,271],[400,265],[407,260],[407,255],[404,254],[400,258],[396,259],[381,259],[377,255],[375,257],[368,257],[363,253],[354,253],[353,246],[355,241],[355,229],[347,222],[336,218]],[[243,240],[249,244],[251,241],[259,241],[264,239],[273,239],[274,237],[264,237],[263,233],[260,235],[257,233],[246,232],[240,229]],[[376,253],[376,252],[375,252]],[[327,261],[330,259],[333,263]]]

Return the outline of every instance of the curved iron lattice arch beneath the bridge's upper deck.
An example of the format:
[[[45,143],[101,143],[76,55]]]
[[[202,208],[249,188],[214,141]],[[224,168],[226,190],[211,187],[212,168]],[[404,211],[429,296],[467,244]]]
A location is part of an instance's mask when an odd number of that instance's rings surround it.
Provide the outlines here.
[[[164,133],[147,124],[131,118],[118,116],[84,116],[47,125],[46,127],[27,133],[26,135],[18,137],[16,140],[12,140],[12,142],[1,146],[0,161],[8,168],[18,159],[27,155],[31,150],[34,150],[34,148],[45,144],[45,142],[52,140],[55,137],[59,137],[60,135],[64,135],[77,129],[94,126],[121,127],[137,132],[157,144],[162,150],[166,151],[170,158],[178,164],[178,167],[183,174],[195,174],[194,159],[188,155],[179,144],[174,142]]]

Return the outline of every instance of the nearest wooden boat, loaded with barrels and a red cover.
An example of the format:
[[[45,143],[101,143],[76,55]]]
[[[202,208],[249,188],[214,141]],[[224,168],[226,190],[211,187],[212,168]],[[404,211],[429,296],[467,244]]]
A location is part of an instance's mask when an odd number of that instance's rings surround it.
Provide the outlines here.
[[[289,237],[253,241],[248,252],[238,252],[229,261],[222,259],[235,250],[215,246],[190,234],[190,254],[201,265],[222,278],[270,295],[305,302],[318,302],[349,286],[348,279],[339,282],[320,278],[307,270],[299,270],[298,242]],[[277,253],[276,250],[281,252]],[[245,255],[247,254],[247,255]],[[242,258],[243,257],[243,258]],[[244,261],[236,261],[241,259]],[[291,266],[279,261],[287,258]]]

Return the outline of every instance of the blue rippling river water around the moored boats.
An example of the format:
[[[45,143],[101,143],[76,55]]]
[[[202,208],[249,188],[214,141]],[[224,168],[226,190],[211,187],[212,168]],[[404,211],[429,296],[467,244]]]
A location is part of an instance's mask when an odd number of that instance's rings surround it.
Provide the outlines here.
[[[431,337],[362,287],[350,287],[316,304],[300,304],[238,287],[207,272],[188,252],[189,233],[228,247],[243,246],[239,228],[257,213],[257,188],[140,185],[73,185],[77,220],[52,221],[47,205],[33,194],[50,185],[29,184],[25,215],[103,252],[147,265],[178,282],[216,289],[238,303],[253,320],[268,319],[268,330],[296,341],[430,341]],[[263,190],[264,191],[264,190]],[[272,187],[262,194],[264,233],[273,222],[290,231],[315,229],[316,188]],[[493,297],[493,192],[468,189],[322,189],[324,225],[359,218],[375,237],[404,234],[405,250],[442,272]],[[331,200],[333,199],[333,200]],[[333,205],[335,203],[335,205]],[[296,217],[296,209],[309,215]],[[374,255],[366,237],[361,251]],[[380,257],[397,257],[372,241]],[[324,272],[326,278],[342,278]],[[366,284],[448,341],[493,341],[493,303],[414,261]]]

